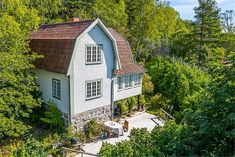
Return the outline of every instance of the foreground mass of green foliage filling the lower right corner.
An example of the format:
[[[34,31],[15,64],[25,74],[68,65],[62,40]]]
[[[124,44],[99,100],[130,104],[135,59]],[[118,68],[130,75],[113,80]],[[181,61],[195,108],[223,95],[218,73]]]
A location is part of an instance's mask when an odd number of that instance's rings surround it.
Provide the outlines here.
[[[231,66],[215,66],[212,81],[200,93],[195,109],[184,110],[181,124],[167,122],[152,132],[132,130],[130,141],[103,147],[115,156],[232,156],[234,155],[235,55]],[[123,145],[126,148],[123,148]],[[129,151],[129,153],[127,153]],[[102,156],[101,154],[101,156]]]

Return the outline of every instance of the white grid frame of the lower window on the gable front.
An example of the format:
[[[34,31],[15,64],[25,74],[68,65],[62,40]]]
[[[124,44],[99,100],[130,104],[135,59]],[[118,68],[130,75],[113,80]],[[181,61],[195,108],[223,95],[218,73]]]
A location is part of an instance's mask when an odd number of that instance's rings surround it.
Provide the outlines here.
[[[100,89],[97,86],[98,83],[100,83]],[[89,86],[90,86],[90,88],[88,89]],[[85,82],[85,89],[86,89],[86,93],[85,93],[86,100],[102,97],[103,80],[97,79],[97,80],[86,81]],[[98,90],[100,90],[100,91],[98,91]],[[90,91],[90,92],[88,93],[88,91]]]

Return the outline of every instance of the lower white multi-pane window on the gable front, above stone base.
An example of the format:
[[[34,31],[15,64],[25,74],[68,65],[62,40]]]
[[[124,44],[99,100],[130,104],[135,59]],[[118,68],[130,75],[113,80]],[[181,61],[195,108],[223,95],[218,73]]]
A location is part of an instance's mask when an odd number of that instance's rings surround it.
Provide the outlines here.
[[[86,82],[86,99],[101,97],[102,95],[102,80]]]

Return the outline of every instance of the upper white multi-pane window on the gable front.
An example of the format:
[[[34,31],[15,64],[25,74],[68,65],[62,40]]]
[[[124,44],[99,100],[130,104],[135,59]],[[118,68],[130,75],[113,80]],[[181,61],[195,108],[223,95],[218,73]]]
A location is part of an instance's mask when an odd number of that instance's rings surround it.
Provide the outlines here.
[[[86,64],[102,62],[102,45],[86,46]]]

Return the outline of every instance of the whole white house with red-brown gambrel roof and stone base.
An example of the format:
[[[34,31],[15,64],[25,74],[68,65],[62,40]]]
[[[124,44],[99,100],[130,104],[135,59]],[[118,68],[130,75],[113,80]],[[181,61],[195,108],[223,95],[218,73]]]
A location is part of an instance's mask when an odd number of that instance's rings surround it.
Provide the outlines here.
[[[44,56],[33,70],[44,100],[75,126],[108,120],[115,101],[141,94],[143,68],[128,42],[99,19],[42,25],[30,47]]]

